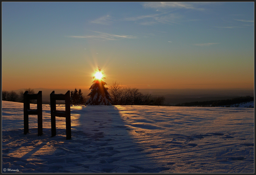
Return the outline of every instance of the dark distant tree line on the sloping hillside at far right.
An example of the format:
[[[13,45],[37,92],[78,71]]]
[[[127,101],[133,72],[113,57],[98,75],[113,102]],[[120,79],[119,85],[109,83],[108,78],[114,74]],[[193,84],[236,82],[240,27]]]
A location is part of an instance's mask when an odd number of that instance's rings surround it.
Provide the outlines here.
[[[189,103],[180,103],[175,106],[217,107],[217,106],[234,105],[234,104],[250,102],[250,101],[254,101],[254,97],[246,96],[246,97],[238,97],[238,98],[232,98],[227,100],[194,101]]]

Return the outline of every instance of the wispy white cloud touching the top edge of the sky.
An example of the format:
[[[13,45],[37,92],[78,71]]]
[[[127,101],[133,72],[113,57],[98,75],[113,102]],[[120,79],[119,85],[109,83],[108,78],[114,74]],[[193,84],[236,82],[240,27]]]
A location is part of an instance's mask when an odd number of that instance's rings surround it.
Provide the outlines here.
[[[193,10],[205,10],[199,7],[202,3],[196,2],[146,2],[143,4],[145,8],[182,8],[182,9],[193,9]]]

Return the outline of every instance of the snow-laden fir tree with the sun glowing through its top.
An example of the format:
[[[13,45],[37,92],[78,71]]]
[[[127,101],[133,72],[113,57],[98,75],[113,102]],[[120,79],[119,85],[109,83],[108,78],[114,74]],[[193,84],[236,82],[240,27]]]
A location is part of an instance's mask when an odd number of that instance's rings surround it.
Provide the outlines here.
[[[88,94],[90,97],[85,105],[111,105],[111,97],[108,93],[108,88],[105,87],[106,83],[103,81],[104,72],[101,68],[95,69],[95,76],[92,77],[94,81],[92,86],[89,88],[91,92]]]

